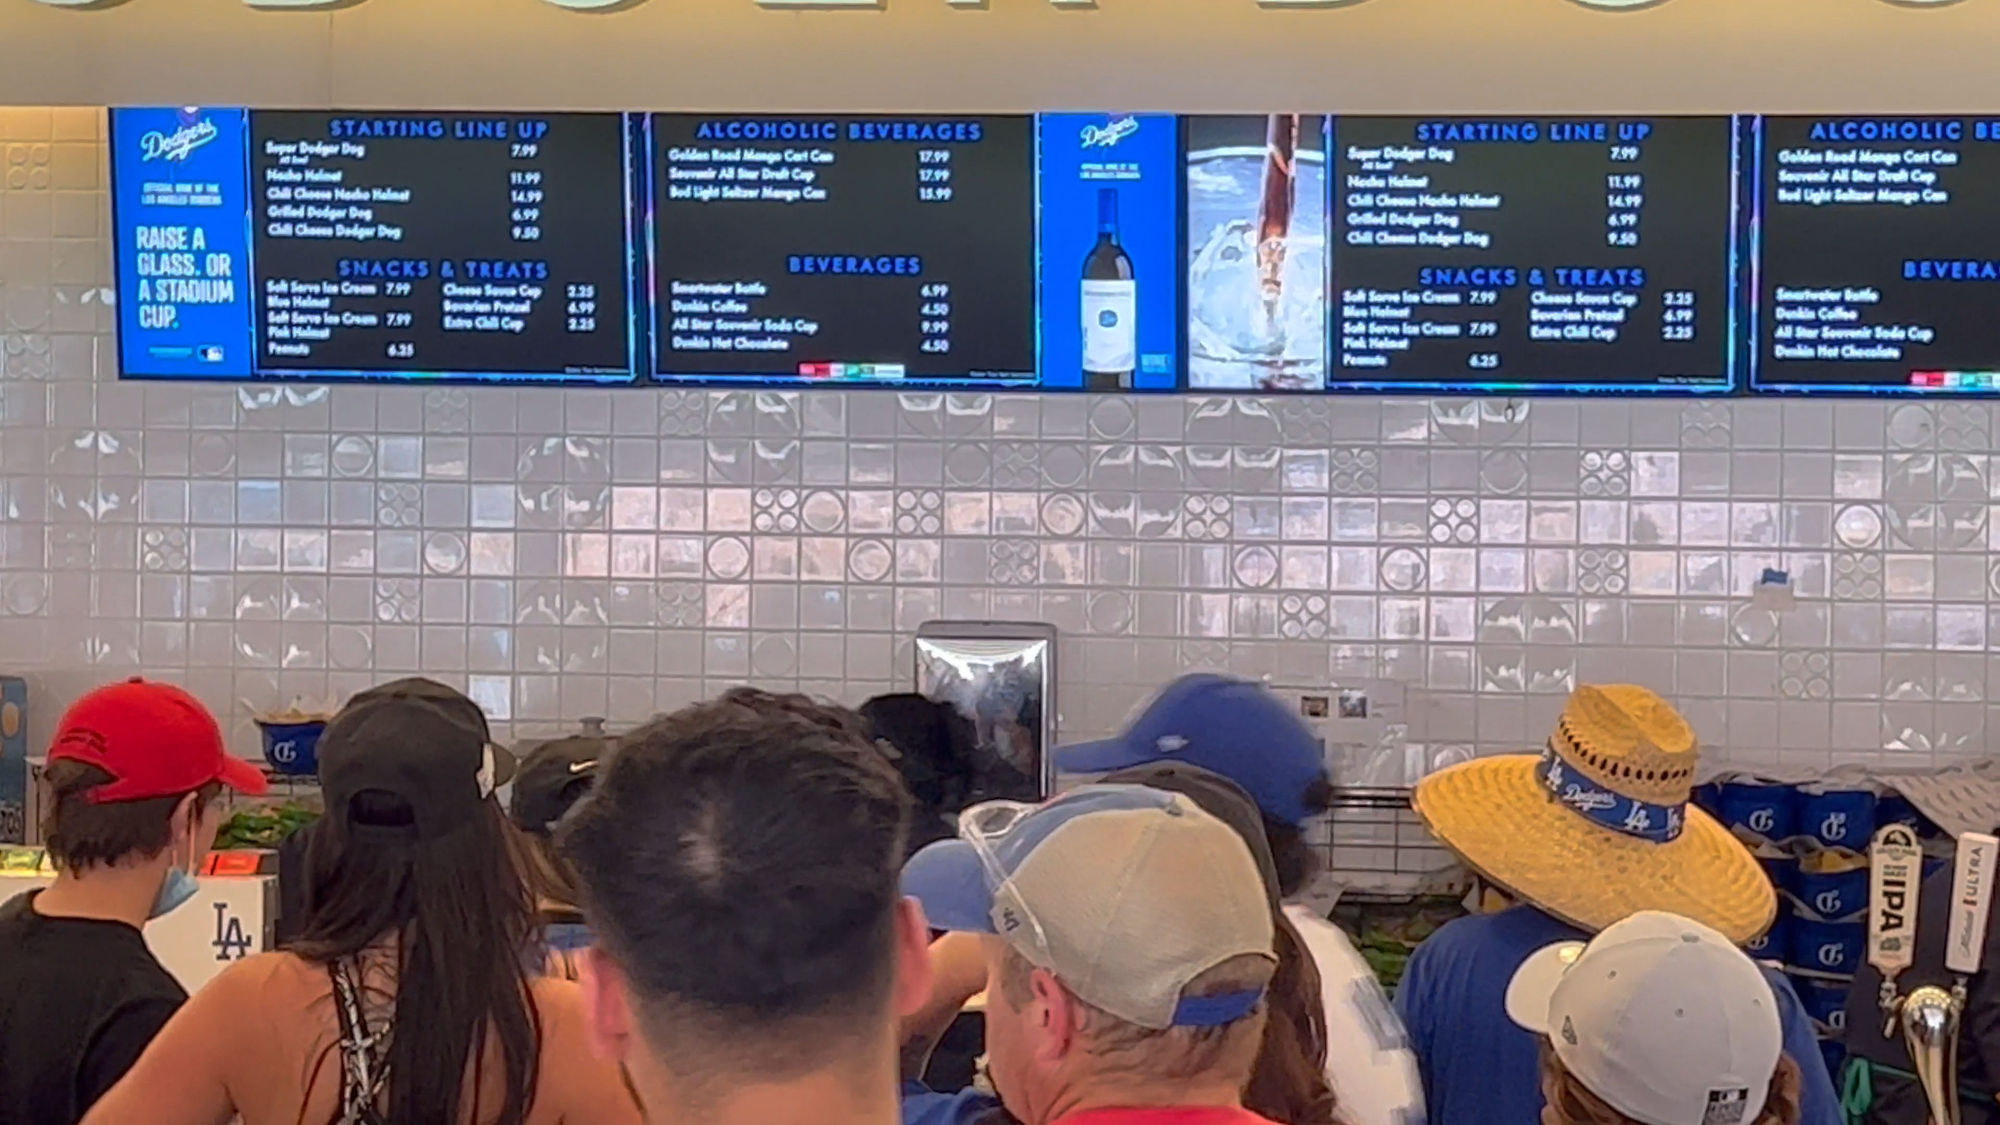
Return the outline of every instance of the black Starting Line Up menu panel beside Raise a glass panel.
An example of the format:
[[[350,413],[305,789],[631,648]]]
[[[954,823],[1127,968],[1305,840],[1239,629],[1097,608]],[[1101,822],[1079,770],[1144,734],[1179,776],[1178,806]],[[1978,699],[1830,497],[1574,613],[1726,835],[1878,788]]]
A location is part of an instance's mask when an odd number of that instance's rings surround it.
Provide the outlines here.
[[[264,374],[632,378],[622,114],[250,114]]]

